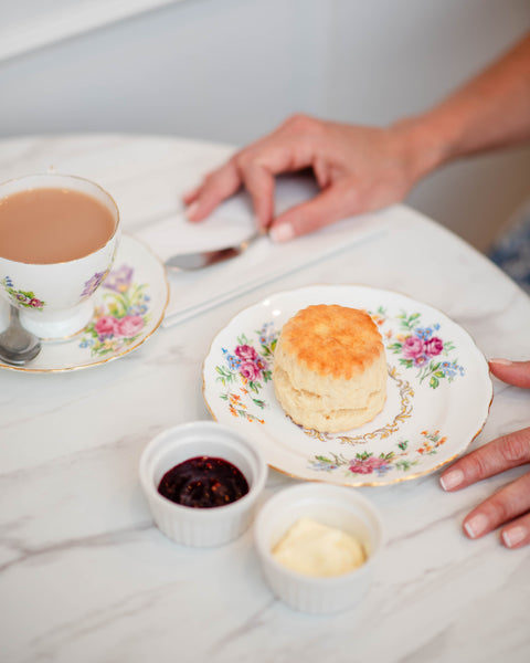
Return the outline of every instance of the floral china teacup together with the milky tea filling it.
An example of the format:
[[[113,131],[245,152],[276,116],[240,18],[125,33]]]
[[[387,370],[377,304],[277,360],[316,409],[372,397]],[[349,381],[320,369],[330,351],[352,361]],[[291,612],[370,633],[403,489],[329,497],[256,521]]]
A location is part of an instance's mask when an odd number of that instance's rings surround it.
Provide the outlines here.
[[[49,173],[0,185],[0,295],[43,339],[82,332],[119,232],[116,203],[87,179]]]

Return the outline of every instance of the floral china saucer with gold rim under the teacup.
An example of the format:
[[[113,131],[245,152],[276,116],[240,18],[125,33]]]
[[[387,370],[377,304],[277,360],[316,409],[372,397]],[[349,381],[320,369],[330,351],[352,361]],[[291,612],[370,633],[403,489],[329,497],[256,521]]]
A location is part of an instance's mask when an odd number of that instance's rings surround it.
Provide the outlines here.
[[[44,341],[26,372],[57,372],[89,368],[123,357],[141,345],[162,322],[169,284],[162,264],[141,242],[121,235],[113,269],[95,293],[94,315],[85,329],[67,340]],[[7,325],[8,304],[0,301],[0,328]]]

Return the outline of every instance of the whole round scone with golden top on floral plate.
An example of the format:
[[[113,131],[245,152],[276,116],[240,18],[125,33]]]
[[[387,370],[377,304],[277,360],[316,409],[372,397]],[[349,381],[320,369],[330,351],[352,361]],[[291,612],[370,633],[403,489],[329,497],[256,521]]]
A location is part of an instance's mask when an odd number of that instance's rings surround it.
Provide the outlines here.
[[[371,421],[383,409],[386,378],[381,334],[364,311],[308,306],[282,329],[274,390],[304,428],[332,433]]]

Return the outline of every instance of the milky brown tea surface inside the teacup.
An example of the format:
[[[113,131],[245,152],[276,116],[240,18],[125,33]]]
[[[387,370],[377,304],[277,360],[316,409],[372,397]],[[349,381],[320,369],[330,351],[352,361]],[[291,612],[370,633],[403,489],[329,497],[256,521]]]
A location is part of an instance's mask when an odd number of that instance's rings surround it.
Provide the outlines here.
[[[73,189],[35,188],[0,198],[0,257],[30,264],[77,260],[116,231],[110,210]]]

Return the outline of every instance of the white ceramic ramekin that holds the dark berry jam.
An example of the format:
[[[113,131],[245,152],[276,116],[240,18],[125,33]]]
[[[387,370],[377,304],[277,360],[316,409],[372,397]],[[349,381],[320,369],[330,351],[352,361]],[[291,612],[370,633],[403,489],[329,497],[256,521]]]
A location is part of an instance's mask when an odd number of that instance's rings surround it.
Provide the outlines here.
[[[166,472],[204,455],[235,465],[248,483],[248,493],[232,504],[212,508],[181,506],[160,495],[158,486]],[[155,523],[171,540],[200,548],[226,544],[248,528],[266,477],[267,464],[259,449],[214,421],[176,425],[151,440],[140,457],[140,482]]]

